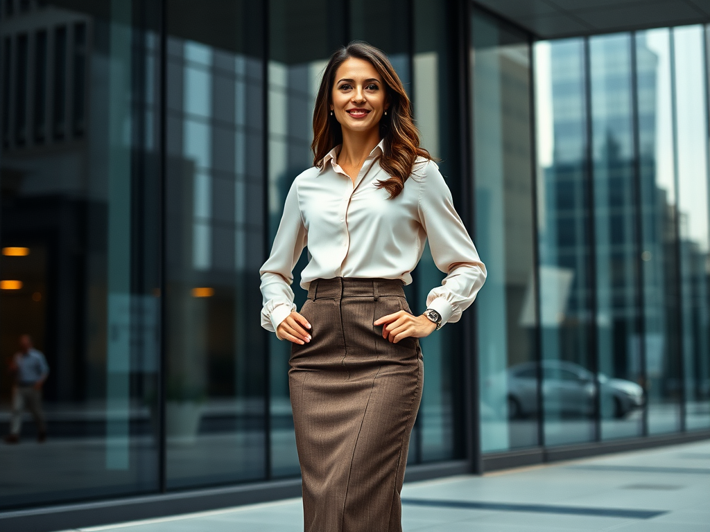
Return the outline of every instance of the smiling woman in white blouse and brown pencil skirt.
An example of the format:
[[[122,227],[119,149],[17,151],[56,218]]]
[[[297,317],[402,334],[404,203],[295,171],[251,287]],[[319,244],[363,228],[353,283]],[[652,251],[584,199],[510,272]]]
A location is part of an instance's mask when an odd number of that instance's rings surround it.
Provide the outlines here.
[[[292,342],[305,531],[401,531],[422,396],[418,338],[458,321],[486,270],[381,50],[354,42],[334,53],[313,133],[314,166],[291,185],[260,272],[262,326]],[[427,238],[447,277],[415,316],[402,287]],[[297,312],[290,284],[305,246],[308,299]]]

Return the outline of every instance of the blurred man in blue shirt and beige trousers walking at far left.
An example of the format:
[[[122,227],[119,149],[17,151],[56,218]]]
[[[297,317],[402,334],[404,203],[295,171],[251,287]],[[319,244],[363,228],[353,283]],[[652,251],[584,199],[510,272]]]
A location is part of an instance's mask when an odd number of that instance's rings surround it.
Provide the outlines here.
[[[49,366],[44,355],[33,347],[32,338],[28,334],[20,336],[20,350],[10,362],[10,372],[15,375],[15,385],[12,390],[10,433],[5,437],[5,441],[20,441],[22,413],[27,408],[37,423],[37,441],[42,443],[47,438],[47,426],[42,411],[42,386],[49,375]]]

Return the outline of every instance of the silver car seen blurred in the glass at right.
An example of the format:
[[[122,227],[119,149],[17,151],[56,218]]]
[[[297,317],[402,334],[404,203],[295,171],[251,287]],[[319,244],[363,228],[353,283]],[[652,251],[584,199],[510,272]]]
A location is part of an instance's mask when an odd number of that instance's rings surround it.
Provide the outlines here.
[[[537,362],[508,368],[506,404],[510,419],[537,414]],[[604,419],[623,419],[644,404],[643,387],[626,379],[599,373],[601,414]],[[542,362],[545,409],[567,416],[592,416],[595,409],[594,374],[574,362]]]

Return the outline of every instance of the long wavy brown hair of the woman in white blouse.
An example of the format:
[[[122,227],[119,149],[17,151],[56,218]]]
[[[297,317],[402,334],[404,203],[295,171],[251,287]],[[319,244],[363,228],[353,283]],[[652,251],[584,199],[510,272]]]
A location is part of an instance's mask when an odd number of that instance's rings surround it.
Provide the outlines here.
[[[412,118],[412,104],[391,62],[382,50],[361,40],[354,40],[337,50],[325,67],[313,111],[313,164],[322,167],[323,157],[343,142],[342,128],[335,116],[330,114],[330,103],[335,73],[351,57],[370,62],[387,87],[390,106],[387,115],[380,121],[380,137],[385,140],[380,166],[391,177],[378,181],[376,186],[386,189],[390,199],[393,199],[402,192],[404,182],[413,173],[417,155],[427,160],[432,160],[432,156],[419,146],[419,132]]]

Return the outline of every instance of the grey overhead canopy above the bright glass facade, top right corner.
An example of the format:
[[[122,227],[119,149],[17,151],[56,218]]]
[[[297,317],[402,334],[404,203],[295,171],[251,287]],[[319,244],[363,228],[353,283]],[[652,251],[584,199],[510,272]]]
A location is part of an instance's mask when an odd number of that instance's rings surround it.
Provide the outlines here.
[[[476,0],[542,39],[710,23],[710,0]]]

